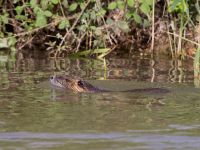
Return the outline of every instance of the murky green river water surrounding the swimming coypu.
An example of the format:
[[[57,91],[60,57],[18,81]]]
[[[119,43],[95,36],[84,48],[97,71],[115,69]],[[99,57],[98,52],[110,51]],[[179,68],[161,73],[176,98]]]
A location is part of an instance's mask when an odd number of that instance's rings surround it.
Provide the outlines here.
[[[1,62],[0,68],[0,149],[200,147],[200,89],[190,62],[24,59]],[[78,94],[52,88],[49,76],[64,73],[111,90],[171,92]]]

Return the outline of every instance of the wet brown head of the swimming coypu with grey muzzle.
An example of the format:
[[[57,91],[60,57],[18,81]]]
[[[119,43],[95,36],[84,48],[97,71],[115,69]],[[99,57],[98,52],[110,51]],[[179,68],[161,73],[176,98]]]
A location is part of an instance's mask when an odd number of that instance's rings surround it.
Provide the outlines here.
[[[50,82],[56,87],[69,89],[74,92],[96,92],[98,90],[98,88],[86,81],[71,78],[69,76],[54,75],[50,78]]]

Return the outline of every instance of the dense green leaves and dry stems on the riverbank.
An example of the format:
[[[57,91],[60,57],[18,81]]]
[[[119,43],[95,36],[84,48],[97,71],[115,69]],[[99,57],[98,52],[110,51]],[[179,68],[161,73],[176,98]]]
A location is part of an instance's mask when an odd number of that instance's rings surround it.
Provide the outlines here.
[[[199,46],[198,0],[0,0],[0,14],[0,49],[12,52],[39,46],[51,56],[103,57],[153,52],[158,43],[175,57]]]

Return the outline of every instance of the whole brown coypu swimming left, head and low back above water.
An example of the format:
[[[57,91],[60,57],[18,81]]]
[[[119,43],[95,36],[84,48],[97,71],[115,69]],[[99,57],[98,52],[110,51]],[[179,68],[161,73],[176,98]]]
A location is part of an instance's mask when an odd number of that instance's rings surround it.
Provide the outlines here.
[[[62,75],[54,75],[50,78],[50,82],[53,86],[62,88],[62,89],[69,89],[74,92],[89,92],[89,93],[98,93],[98,92],[154,92],[154,93],[167,93],[169,92],[168,89],[164,88],[144,88],[144,89],[131,89],[125,91],[110,91],[101,89],[91,85],[90,83],[81,80],[71,78],[69,76],[62,76]]]

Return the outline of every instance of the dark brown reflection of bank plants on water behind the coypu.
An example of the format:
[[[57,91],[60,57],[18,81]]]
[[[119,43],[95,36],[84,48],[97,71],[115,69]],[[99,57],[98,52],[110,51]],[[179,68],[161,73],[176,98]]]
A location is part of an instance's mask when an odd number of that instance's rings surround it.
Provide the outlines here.
[[[151,82],[193,82],[191,60],[108,59],[21,59],[0,63],[2,72],[52,74],[65,72],[84,78],[131,79]],[[37,71],[37,72],[35,72]],[[36,75],[36,74],[35,74]],[[2,77],[2,76],[1,76]]]

